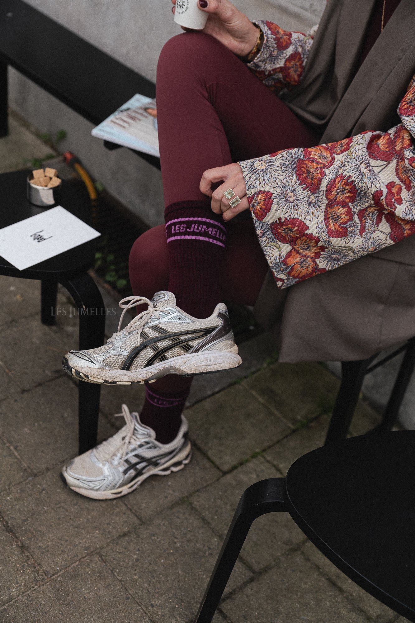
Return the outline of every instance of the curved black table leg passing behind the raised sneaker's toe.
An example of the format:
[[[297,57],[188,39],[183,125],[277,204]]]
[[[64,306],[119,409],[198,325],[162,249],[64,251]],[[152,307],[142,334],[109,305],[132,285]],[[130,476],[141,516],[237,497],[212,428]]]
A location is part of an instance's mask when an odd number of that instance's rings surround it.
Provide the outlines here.
[[[105,338],[105,309],[100,291],[87,273],[62,282],[79,308],[79,349],[102,346]],[[101,386],[79,383],[79,454],[97,444]]]

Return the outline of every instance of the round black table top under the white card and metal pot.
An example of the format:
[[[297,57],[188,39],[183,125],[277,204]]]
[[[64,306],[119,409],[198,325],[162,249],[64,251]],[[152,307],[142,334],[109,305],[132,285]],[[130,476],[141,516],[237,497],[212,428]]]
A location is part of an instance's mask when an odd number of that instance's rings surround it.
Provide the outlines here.
[[[13,171],[0,175],[0,228],[23,221],[31,216],[40,214],[50,208],[37,207],[26,199],[26,179],[30,171]],[[69,182],[62,180],[62,191],[59,205],[68,212],[72,212],[81,221],[90,223],[90,202],[88,197],[80,193]],[[54,206],[51,206],[54,207]],[[69,249],[55,255],[49,260],[31,266],[25,270],[16,269],[7,260],[0,257],[0,274],[9,277],[28,279],[59,280],[76,277],[85,273],[93,264],[95,255],[95,240]]]

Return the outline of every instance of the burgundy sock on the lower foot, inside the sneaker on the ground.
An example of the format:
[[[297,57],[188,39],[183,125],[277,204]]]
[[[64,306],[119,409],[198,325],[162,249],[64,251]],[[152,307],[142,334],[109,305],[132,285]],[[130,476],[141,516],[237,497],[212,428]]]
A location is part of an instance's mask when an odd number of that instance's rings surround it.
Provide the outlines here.
[[[146,399],[140,421],[156,433],[156,440],[169,444],[179,432],[181,414],[193,378],[169,374],[146,385]]]

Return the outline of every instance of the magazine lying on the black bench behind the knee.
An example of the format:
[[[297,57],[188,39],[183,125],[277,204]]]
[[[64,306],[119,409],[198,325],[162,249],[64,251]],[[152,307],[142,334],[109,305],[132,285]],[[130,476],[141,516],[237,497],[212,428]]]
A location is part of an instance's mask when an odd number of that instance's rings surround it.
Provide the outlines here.
[[[134,95],[108,119],[93,128],[92,136],[160,157],[156,100]]]

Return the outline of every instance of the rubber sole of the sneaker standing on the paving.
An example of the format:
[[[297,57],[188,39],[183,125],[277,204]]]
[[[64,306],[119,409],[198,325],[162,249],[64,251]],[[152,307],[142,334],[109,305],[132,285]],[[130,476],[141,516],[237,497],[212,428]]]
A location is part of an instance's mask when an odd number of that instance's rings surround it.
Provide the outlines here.
[[[168,476],[171,472],[179,472],[185,465],[188,465],[191,457],[191,444],[188,442],[183,450],[176,457],[169,460],[165,465],[156,467],[153,470],[150,469],[148,472],[140,474],[137,478],[133,478],[133,480],[123,487],[110,491],[93,491],[82,487],[76,487],[72,484],[72,482],[75,482],[74,478],[70,477],[65,467],[62,469],[62,472],[60,472],[60,478],[62,482],[67,485],[67,487],[72,489],[72,491],[75,491],[75,493],[79,493],[87,498],[93,498],[93,500],[114,500],[115,498],[123,497],[123,495],[128,495],[128,493],[131,493],[131,491],[134,491],[136,488],[140,487],[141,483],[144,482],[144,480],[146,480],[149,476]]]

